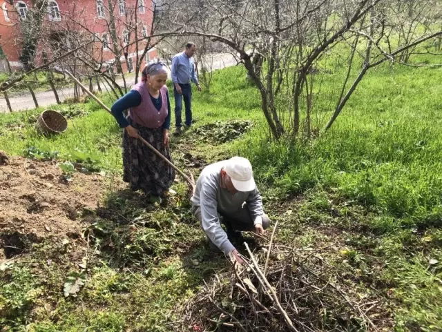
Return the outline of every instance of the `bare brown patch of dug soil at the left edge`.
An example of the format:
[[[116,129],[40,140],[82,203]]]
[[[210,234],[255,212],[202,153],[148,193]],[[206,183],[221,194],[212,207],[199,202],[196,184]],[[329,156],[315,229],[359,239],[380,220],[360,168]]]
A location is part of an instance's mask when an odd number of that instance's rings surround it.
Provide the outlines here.
[[[81,213],[97,208],[105,180],[75,172],[66,182],[56,162],[10,158],[0,166],[0,260],[21,253],[27,241],[79,237]]]

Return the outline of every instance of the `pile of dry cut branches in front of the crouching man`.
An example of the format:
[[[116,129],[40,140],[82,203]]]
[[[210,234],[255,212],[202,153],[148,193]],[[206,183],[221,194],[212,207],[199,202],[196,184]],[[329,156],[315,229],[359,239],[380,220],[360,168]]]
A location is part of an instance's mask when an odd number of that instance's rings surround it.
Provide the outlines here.
[[[182,309],[180,331],[378,331],[369,318],[378,301],[338,286],[320,251],[270,243],[253,255],[245,246],[247,267],[205,284]]]

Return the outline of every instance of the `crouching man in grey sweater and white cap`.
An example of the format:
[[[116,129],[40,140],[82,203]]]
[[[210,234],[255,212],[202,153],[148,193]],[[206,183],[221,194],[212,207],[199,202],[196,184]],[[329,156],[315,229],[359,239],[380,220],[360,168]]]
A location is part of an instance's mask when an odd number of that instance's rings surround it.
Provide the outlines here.
[[[240,264],[244,261],[229,239],[240,235],[239,231],[262,235],[269,226],[251,164],[242,157],[206,166],[198,178],[191,202],[193,214],[209,237],[210,248],[227,256],[232,253]]]

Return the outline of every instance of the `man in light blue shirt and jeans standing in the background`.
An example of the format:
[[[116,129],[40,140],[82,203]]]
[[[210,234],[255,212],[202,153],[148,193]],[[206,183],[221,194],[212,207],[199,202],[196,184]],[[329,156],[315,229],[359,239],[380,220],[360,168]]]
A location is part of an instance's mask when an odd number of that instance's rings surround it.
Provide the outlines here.
[[[191,82],[196,84],[198,91],[201,91],[201,86],[195,73],[195,63],[192,59],[195,52],[195,43],[189,41],[186,43],[186,50],[178,53],[172,59],[171,77],[173,81],[173,95],[175,97],[175,135],[181,134],[181,110],[183,98],[184,108],[186,109],[186,120],[184,124],[188,127],[192,124]]]

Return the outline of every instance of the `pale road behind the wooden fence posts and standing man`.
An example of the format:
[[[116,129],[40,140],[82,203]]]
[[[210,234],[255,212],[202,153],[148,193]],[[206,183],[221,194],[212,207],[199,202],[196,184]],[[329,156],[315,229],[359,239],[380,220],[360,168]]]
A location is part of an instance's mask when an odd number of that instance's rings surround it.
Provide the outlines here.
[[[213,56],[213,70],[218,70],[230,66],[236,65],[236,59],[229,53],[223,53],[220,55]],[[122,86],[123,81],[117,81],[117,83]],[[104,89],[104,88],[103,88]],[[68,98],[74,97],[74,88],[62,88],[58,90],[60,101],[64,101]],[[52,90],[45,92],[37,92],[36,94],[39,106],[49,106],[56,104],[54,93]],[[10,104],[13,111],[17,110],[30,110],[35,108],[34,101],[29,93],[23,92],[21,94],[10,96]],[[8,106],[6,105],[6,99],[3,95],[0,97],[0,113],[8,113]]]

